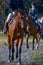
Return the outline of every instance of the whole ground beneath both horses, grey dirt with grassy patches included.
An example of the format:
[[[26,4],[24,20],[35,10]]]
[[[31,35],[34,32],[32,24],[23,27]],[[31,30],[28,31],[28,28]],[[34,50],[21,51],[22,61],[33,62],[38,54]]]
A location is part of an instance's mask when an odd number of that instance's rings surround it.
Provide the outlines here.
[[[0,65],[17,65],[18,59],[15,58],[15,54],[14,61],[8,63],[8,44],[6,44],[6,42],[7,41],[5,40],[5,38],[0,38]],[[38,50],[36,49],[32,50],[32,40],[29,40],[29,49],[27,49],[26,41],[24,40],[21,55],[22,65],[41,65],[38,59],[37,60],[34,59],[36,59],[37,57],[43,59],[43,40],[40,41]]]

